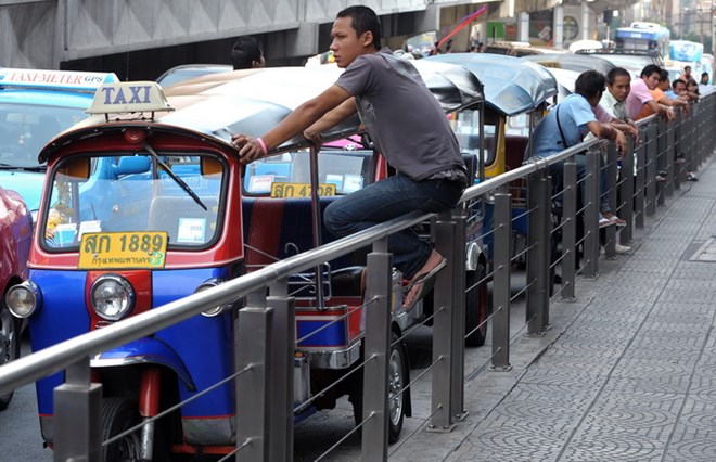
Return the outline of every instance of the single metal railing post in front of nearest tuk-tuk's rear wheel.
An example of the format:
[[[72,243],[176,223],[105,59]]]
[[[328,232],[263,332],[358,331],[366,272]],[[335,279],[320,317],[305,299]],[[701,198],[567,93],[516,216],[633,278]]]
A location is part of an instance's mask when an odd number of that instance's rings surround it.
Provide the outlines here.
[[[388,357],[391,355],[391,282],[393,255],[387,238],[373,243],[368,254],[363,308],[366,313],[363,371],[363,461],[387,460],[388,445]],[[402,399],[400,396],[399,399]]]

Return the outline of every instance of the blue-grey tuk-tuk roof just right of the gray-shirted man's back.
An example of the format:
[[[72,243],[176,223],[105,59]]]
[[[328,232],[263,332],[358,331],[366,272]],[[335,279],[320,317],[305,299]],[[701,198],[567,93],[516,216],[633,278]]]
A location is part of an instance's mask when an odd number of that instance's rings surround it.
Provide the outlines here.
[[[539,65],[513,56],[488,53],[448,53],[423,61],[461,64],[485,86],[485,104],[503,115],[536,108],[557,94],[557,82]]]

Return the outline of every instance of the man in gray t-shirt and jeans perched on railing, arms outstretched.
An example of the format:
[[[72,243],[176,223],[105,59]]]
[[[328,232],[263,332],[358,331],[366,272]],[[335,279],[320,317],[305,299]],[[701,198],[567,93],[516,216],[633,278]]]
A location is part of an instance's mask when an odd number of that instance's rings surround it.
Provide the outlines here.
[[[455,207],[466,187],[458,140],[414,66],[381,48],[375,12],[361,5],[346,8],[333,22],[331,38],[335,63],[345,72],[263,137],[234,136],[241,162],[265,157],[299,133],[320,146],[321,132],[358,112],[371,140],[398,174],[331,203],[323,221],[335,236],[414,210]],[[446,260],[410,228],[392,234],[388,249],[409,280],[404,307],[410,309]]]

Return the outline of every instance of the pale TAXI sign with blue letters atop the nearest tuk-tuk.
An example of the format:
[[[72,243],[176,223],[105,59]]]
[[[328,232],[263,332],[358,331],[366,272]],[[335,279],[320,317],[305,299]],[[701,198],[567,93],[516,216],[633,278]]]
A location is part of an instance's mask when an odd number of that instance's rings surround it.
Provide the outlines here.
[[[127,114],[174,111],[155,81],[105,84],[94,93],[89,114]]]

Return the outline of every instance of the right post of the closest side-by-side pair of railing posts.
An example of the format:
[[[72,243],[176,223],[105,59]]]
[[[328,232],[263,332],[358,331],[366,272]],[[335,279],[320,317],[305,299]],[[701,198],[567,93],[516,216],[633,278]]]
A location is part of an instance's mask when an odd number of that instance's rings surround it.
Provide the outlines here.
[[[295,298],[289,297],[287,280],[269,290],[266,299],[273,309],[272,348],[269,368],[271,377],[271,421],[269,427],[269,460],[293,460],[294,358],[296,351]],[[241,458],[239,458],[241,460]]]

